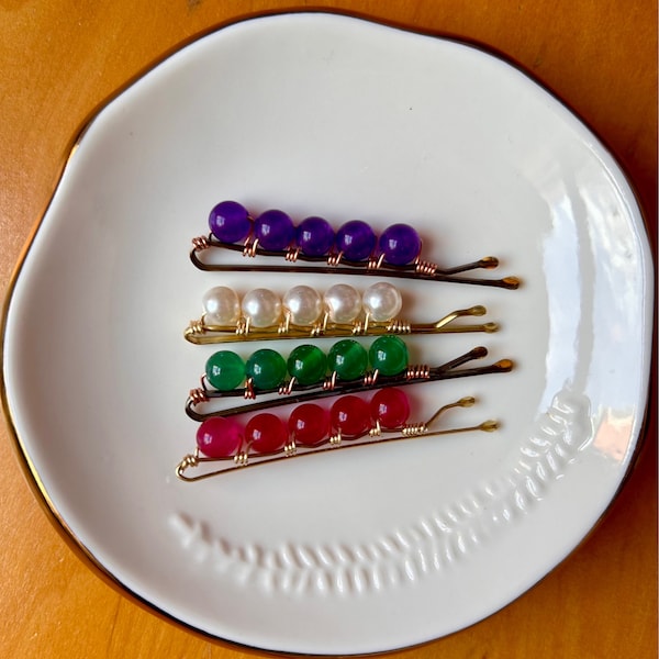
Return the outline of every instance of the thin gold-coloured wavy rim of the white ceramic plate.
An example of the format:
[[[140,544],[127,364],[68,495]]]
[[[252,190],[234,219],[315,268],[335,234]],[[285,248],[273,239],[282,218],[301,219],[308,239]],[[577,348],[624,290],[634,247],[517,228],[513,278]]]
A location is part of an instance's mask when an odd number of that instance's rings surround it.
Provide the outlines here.
[[[93,552],[88,547],[85,546],[85,544],[81,541],[81,539],[76,536],[76,534],[72,532],[72,529],[68,526],[66,520],[63,517],[62,513],[59,512],[59,510],[57,509],[55,503],[52,501],[48,492],[46,491],[46,488],[44,487],[44,484],[41,480],[38,470],[34,466],[34,463],[29,455],[29,451],[26,449],[24,440],[21,438],[21,436],[19,435],[19,432],[16,429],[14,415],[13,415],[13,413],[10,409],[10,404],[9,404],[8,388],[7,388],[7,381],[5,381],[7,325],[8,325],[10,308],[11,308],[12,301],[14,299],[16,283],[21,277],[21,272],[23,270],[25,261],[29,258],[30,252],[32,249],[32,246],[34,244],[36,235],[43,224],[43,221],[46,217],[46,215],[48,214],[52,203],[53,203],[55,197],[57,196],[57,192],[60,188],[62,180],[65,176],[65,172],[68,169],[69,163],[71,161],[71,158],[74,157],[75,153],[77,152],[78,147],[80,146],[82,139],[85,138],[85,135],[87,134],[87,132],[89,131],[91,125],[94,123],[97,118],[100,116],[101,113],[103,113],[103,111],[109,105],[111,105],[115,100],[118,100],[125,91],[131,89],[134,85],[138,83],[142,79],[144,79],[152,71],[154,71],[156,68],[158,68],[160,65],[163,65],[165,62],[167,62],[170,57],[175,56],[178,53],[181,53],[183,49],[186,49],[190,46],[193,46],[197,42],[200,42],[201,40],[204,40],[205,37],[219,34],[227,27],[231,29],[235,25],[239,25],[243,23],[248,23],[248,22],[253,22],[253,21],[259,21],[259,22],[268,21],[271,19],[282,19],[284,16],[291,16],[291,15],[293,15],[293,16],[300,16],[300,15],[330,16],[332,19],[339,18],[339,19],[345,19],[345,20],[349,20],[349,21],[362,22],[362,23],[379,26],[379,27],[387,27],[387,29],[395,30],[395,31],[399,31],[402,33],[407,33],[411,35],[438,40],[440,42],[449,42],[449,43],[454,43],[456,45],[462,45],[462,46],[467,46],[469,48],[476,49],[476,51],[480,52],[481,54],[493,57],[493,58],[498,59],[499,62],[501,62],[505,65],[509,65],[513,69],[517,70],[528,81],[530,81],[532,83],[535,83],[538,88],[540,88],[543,91],[548,93],[554,99],[554,101],[556,101],[559,105],[561,105],[563,109],[568,110],[568,112],[578,122],[580,122],[588,131],[590,131],[590,133],[600,143],[601,148],[606,153],[606,155],[612,159],[612,161],[615,163],[615,165],[618,167],[618,169],[622,174],[622,177],[624,178],[624,181],[626,182],[626,185],[629,188],[632,198],[636,203],[638,213],[640,215],[640,220],[643,222],[643,237],[645,238],[645,244],[647,244],[646,256],[648,257],[646,268],[649,270],[650,275],[656,272],[656,254],[655,254],[655,249],[652,246],[652,242],[650,241],[650,232],[648,228],[649,227],[648,212],[644,206],[643,199],[638,192],[635,180],[632,178],[632,176],[627,171],[627,168],[624,166],[624,164],[621,163],[621,160],[616,157],[615,152],[610,146],[607,141],[605,138],[603,138],[600,135],[600,133],[597,131],[595,131],[590,125],[590,123],[588,121],[585,121],[581,116],[581,114],[573,109],[573,107],[569,102],[565,101],[561,97],[559,97],[559,94],[557,92],[555,92],[547,83],[539,80],[535,76],[535,74],[533,74],[533,71],[530,69],[528,69],[527,67],[522,65],[520,62],[517,62],[516,59],[514,59],[512,56],[510,56],[505,52],[501,51],[500,48],[496,48],[494,46],[485,44],[476,38],[458,36],[458,35],[451,34],[451,33],[440,33],[437,31],[429,31],[429,30],[424,31],[423,29],[416,29],[413,26],[405,25],[404,23],[395,22],[395,21],[387,21],[387,20],[383,20],[380,18],[368,15],[366,13],[347,12],[347,11],[342,11],[342,10],[337,10],[337,9],[333,9],[333,8],[319,8],[319,9],[305,8],[302,10],[255,12],[255,13],[252,13],[248,15],[242,15],[238,18],[234,18],[228,21],[221,21],[219,23],[214,23],[212,26],[201,30],[201,31],[190,35],[189,37],[187,37],[180,42],[177,42],[174,46],[167,48],[158,57],[156,57],[150,63],[148,63],[147,65],[142,67],[137,72],[135,72],[133,76],[131,76],[124,83],[122,83],[121,86],[115,88],[103,100],[98,102],[82,119],[78,129],[74,132],[72,137],[67,143],[67,146],[65,146],[64,153],[62,155],[62,161],[59,164],[58,171],[55,176],[55,182],[53,185],[53,189],[49,194],[48,201],[47,201],[43,212],[41,213],[41,216],[38,216],[37,220],[34,222],[34,224],[32,225],[30,233],[27,235],[26,242],[23,245],[23,247],[21,248],[21,252],[18,257],[18,261],[14,266],[14,269],[13,269],[13,271],[10,276],[9,282],[8,282],[4,299],[2,301],[2,309],[1,309],[1,316],[0,316],[0,342],[1,342],[0,343],[0,402],[1,402],[3,415],[5,418],[5,427],[8,429],[8,436],[10,439],[10,444],[12,445],[13,453],[16,456],[16,459],[18,459],[19,466],[21,468],[21,471],[23,473],[23,477],[27,481],[27,484],[29,484],[30,489],[32,490],[33,494],[35,495],[35,499],[37,500],[42,510],[46,513],[46,517],[51,521],[52,525],[56,528],[59,536],[64,539],[65,544],[74,551],[74,554],[86,565],[87,568],[90,568],[91,571],[97,574],[97,577],[99,577],[103,582],[105,582],[108,585],[110,585],[110,588],[112,588],[119,594],[126,596],[133,603],[137,604],[141,608],[148,611],[149,613],[156,615],[157,617],[159,617],[160,619],[164,619],[165,622],[174,624],[178,628],[182,628],[189,633],[192,633],[197,637],[200,637],[204,640],[215,643],[219,645],[224,645],[228,649],[235,649],[235,650],[242,649],[242,650],[248,650],[248,651],[258,651],[258,652],[273,654],[277,656],[291,656],[291,657],[300,657],[300,656],[335,657],[335,656],[337,656],[336,654],[323,654],[323,652],[315,654],[314,652],[314,654],[310,655],[308,652],[275,650],[275,649],[270,649],[270,648],[266,648],[266,647],[259,647],[257,645],[244,644],[244,643],[241,643],[237,640],[226,639],[226,638],[216,636],[212,633],[204,632],[203,629],[200,629],[190,623],[186,623],[182,619],[179,619],[174,614],[161,610],[155,602],[148,601],[146,597],[143,597],[142,595],[139,595],[136,592],[134,592],[133,590],[131,590],[131,588],[129,585],[124,584],[108,568],[105,568],[102,565],[102,562],[100,561],[100,559],[98,559],[93,555]],[[655,302],[654,313],[652,313],[652,326],[651,326],[652,336],[656,335],[656,331],[657,331],[657,317],[656,317],[656,302]],[[456,629],[449,634],[444,634],[438,637],[429,638],[427,640],[423,640],[417,644],[402,645],[400,647],[392,647],[390,649],[376,650],[375,652],[372,652],[372,651],[359,652],[358,651],[358,652],[348,652],[347,655],[346,655],[346,652],[340,652],[340,655],[342,656],[361,657],[361,656],[367,656],[367,655],[389,654],[391,651],[400,651],[403,649],[418,648],[418,647],[428,645],[431,643],[435,643],[439,639],[448,638],[450,636],[459,634],[471,627],[474,627],[474,626],[479,625],[481,622],[498,614],[503,608],[506,608],[509,605],[511,605],[514,602],[516,602],[517,600],[520,600],[522,596],[524,596],[530,590],[535,589],[540,582],[543,582],[545,579],[550,577],[576,551],[578,551],[582,547],[582,545],[584,545],[591,538],[591,536],[594,533],[596,533],[596,530],[601,526],[602,522],[608,515],[612,506],[616,503],[622,490],[625,488],[628,480],[635,472],[636,467],[639,461],[639,458],[640,458],[641,454],[644,453],[644,449],[647,446],[648,426],[649,426],[649,420],[650,420],[651,412],[652,412],[652,410],[651,410],[652,404],[650,401],[650,395],[652,392],[652,372],[654,372],[654,368],[656,366],[656,358],[657,358],[656,350],[652,348],[652,349],[650,349],[650,353],[649,353],[647,377],[643,378],[643,386],[644,386],[645,392],[646,392],[645,406],[643,410],[643,418],[640,420],[640,423],[639,423],[639,431],[638,431],[638,436],[636,437],[636,444],[635,444],[634,450],[633,450],[632,455],[629,456],[627,467],[621,478],[621,481],[619,481],[615,492],[613,493],[611,500],[603,509],[601,515],[594,521],[592,526],[585,532],[582,539],[574,547],[572,547],[565,555],[565,557],[562,559],[560,559],[548,571],[544,572],[539,577],[539,579],[537,579],[535,582],[529,583],[529,585],[527,588],[525,588],[522,592],[520,592],[520,594],[517,594],[513,599],[506,601],[506,603],[496,607],[490,614],[479,618],[478,621],[476,621],[469,625],[466,625],[465,627],[461,627],[460,629]]]

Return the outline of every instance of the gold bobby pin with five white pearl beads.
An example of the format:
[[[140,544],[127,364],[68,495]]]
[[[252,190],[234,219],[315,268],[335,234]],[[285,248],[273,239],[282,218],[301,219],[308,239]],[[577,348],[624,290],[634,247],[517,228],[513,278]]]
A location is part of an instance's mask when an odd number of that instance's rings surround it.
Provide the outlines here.
[[[347,283],[337,283],[323,297],[309,286],[295,286],[283,298],[258,288],[246,293],[242,301],[233,289],[217,286],[205,293],[202,302],[203,315],[183,333],[193,344],[499,330],[496,323],[455,323],[459,317],[484,315],[487,310],[481,305],[454,311],[435,323],[412,324],[396,319],[402,295],[387,281],[370,286],[364,295]]]

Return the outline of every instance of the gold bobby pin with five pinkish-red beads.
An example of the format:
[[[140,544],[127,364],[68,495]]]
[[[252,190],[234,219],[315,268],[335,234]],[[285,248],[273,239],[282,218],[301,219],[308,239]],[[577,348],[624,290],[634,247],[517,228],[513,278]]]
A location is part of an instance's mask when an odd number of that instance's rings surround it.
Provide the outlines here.
[[[177,466],[177,476],[185,481],[199,481],[230,471],[293,456],[309,456],[324,450],[354,448],[411,437],[433,437],[470,431],[493,432],[496,421],[478,425],[432,429],[437,418],[453,407],[470,407],[471,396],[439,407],[426,422],[409,424],[410,402],[403,391],[381,389],[367,402],[356,395],[338,398],[327,410],[315,403],[294,407],[283,422],[271,413],[252,416],[246,424],[226,416],[204,421],[197,431],[194,453]],[[347,440],[347,442],[346,442]],[[219,470],[188,476],[186,471],[204,463],[222,462]]]

